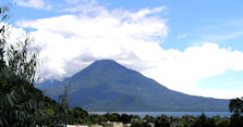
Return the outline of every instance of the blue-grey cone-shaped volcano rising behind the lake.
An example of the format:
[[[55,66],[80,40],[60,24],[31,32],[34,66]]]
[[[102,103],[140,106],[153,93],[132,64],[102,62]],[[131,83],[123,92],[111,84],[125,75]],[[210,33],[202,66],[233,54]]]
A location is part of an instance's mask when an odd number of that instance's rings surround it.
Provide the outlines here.
[[[96,61],[44,91],[57,99],[68,85],[71,105],[95,111],[228,111],[228,100],[169,90],[112,60]]]

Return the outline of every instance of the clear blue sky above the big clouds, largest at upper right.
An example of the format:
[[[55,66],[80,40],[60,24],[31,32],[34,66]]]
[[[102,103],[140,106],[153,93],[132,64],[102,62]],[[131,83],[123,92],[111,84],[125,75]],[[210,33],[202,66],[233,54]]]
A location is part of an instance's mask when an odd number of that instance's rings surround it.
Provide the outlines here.
[[[51,3],[64,3],[60,1],[51,1]],[[168,37],[161,43],[163,48],[184,50],[191,45],[197,45],[198,41],[214,41],[220,43],[221,47],[243,50],[243,46],[239,42],[243,37],[243,17],[241,15],[243,13],[243,2],[241,0],[99,0],[97,2],[97,4],[104,5],[108,10],[138,11],[146,8],[166,7],[166,11],[159,14],[168,20],[167,25],[169,27]],[[15,4],[13,4],[13,8],[12,21],[69,14],[57,11],[57,8],[56,11],[34,10],[32,8],[16,7]]]

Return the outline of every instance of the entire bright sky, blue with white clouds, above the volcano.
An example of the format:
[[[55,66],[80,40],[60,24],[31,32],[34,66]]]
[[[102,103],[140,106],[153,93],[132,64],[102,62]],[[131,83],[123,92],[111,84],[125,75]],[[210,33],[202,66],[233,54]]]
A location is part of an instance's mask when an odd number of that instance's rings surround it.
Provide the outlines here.
[[[169,89],[232,99],[243,91],[242,0],[11,0],[12,42],[29,31],[42,79],[110,59]]]

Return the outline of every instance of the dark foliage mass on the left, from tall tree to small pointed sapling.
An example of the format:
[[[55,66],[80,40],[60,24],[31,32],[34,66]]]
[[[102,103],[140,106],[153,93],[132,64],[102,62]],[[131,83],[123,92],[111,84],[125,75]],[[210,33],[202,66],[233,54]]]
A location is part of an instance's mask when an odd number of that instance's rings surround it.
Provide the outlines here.
[[[0,8],[1,23],[8,18],[8,10]],[[29,35],[14,45],[10,45],[7,37],[8,25],[3,24],[0,28],[0,126],[65,126],[73,123],[68,89],[57,103],[34,87],[39,61],[38,52],[31,49],[33,39]]]

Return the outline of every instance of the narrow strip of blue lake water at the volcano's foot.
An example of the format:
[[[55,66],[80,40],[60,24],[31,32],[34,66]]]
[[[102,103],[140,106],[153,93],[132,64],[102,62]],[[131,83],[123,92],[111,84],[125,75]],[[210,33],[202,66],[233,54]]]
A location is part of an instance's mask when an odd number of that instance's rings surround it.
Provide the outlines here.
[[[89,112],[90,114],[99,114],[99,115],[104,115],[107,112]],[[133,115],[138,115],[142,118],[145,115],[150,115],[150,116],[159,116],[159,115],[167,115],[167,116],[174,116],[174,117],[182,117],[183,115],[193,115],[193,116],[198,116],[202,115],[202,112],[112,112],[112,113],[119,113],[119,114],[133,114]],[[219,115],[221,117],[230,117],[231,113],[230,112],[204,112],[204,114],[208,117],[212,117],[216,115]]]

